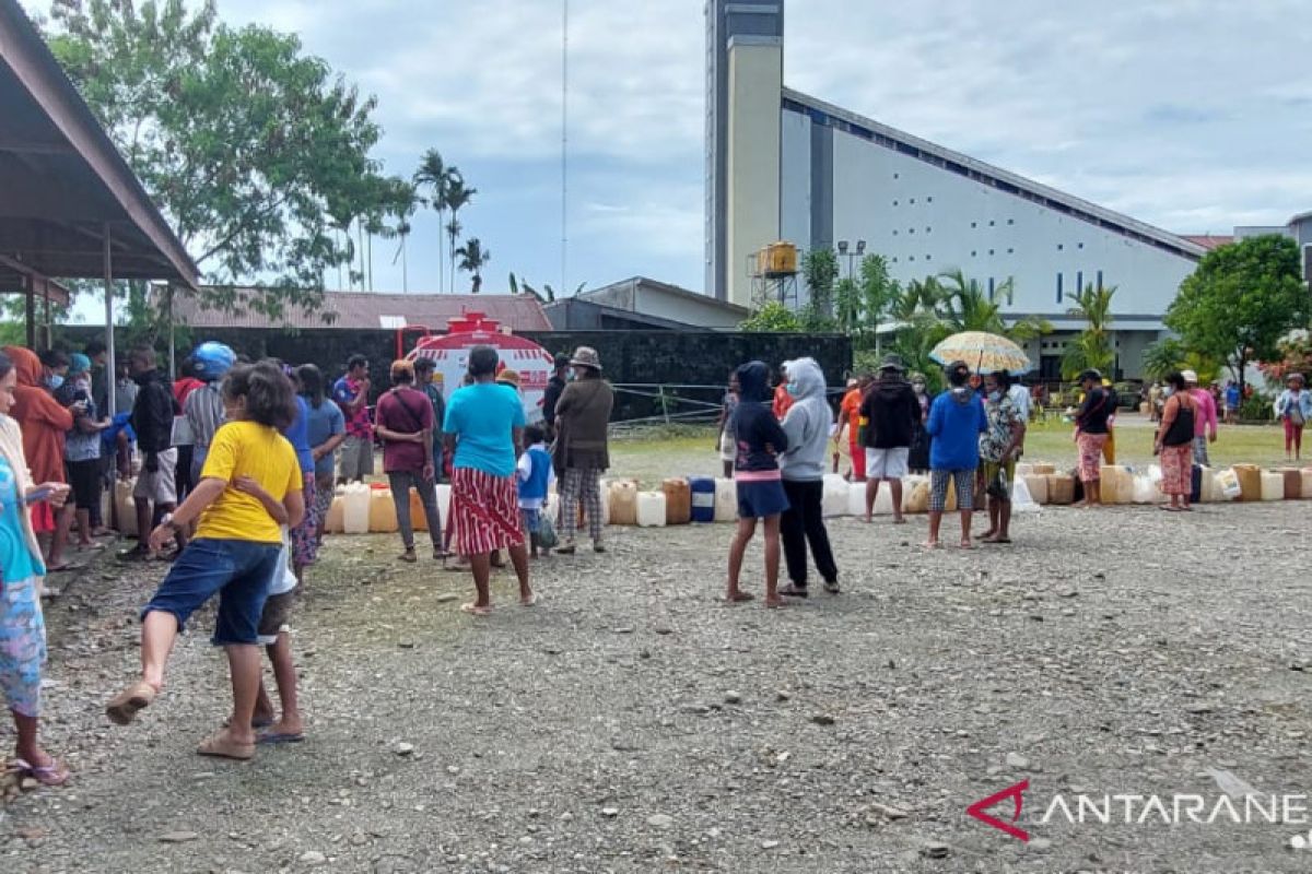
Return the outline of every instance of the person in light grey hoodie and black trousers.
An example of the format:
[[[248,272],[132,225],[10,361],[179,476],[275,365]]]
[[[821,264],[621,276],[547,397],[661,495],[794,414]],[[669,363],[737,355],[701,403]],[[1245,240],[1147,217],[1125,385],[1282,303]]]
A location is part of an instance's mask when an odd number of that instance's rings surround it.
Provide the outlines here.
[[[824,498],[824,465],[833,428],[833,411],[825,400],[824,371],[812,358],[787,362],[787,390],[792,406],[783,417],[783,434],[789,449],[779,456],[783,491],[789,508],[779,520],[783,558],[791,584],[781,595],[807,596],[807,544],[827,592],[838,594],[838,567],[829,546],[829,532],[821,511]]]

